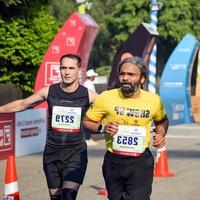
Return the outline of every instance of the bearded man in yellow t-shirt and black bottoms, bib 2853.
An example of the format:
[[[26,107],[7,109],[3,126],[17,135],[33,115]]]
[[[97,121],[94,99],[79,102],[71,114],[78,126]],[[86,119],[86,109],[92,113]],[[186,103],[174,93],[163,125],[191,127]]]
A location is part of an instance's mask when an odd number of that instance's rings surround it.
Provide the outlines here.
[[[155,124],[153,145],[161,148],[168,119],[160,97],[141,89],[146,78],[141,58],[125,58],[119,63],[120,88],[100,94],[83,119],[86,128],[105,132],[103,176],[110,200],[150,199],[154,166],[149,150],[151,123]]]

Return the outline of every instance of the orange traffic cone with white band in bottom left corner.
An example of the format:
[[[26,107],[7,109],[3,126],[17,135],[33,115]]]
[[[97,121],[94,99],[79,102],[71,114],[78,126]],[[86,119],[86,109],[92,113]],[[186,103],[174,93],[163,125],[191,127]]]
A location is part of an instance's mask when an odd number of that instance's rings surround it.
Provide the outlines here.
[[[14,156],[8,156],[3,200],[20,200]]]

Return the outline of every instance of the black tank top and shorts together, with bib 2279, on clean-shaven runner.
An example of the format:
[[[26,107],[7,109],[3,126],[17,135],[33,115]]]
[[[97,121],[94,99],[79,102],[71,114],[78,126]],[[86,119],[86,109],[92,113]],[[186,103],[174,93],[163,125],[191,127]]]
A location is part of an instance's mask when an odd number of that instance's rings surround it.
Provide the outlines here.
[[[82,184],[88,158],[80,122],[89,107],[88,90],[79,85],[68,93],[60,83],[53,84],[47,102],[49,125],[43,165],[48,187],[59,188],[62,181]]]

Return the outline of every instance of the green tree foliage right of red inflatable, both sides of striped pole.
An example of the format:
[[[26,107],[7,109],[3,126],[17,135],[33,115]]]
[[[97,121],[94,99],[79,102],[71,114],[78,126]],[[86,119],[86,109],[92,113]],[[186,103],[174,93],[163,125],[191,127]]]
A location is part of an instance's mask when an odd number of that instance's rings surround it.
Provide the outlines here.
[[[149,5],[147,0],[110,1],[107,12],[100,1],[92,7],[92,16],[101,25],[101,32],[95,42],[94,66],[110,65],[115,52],[142,22],[150,23]],[[172,50],[185,34],[191,33],[200,40],[200,4],[196,0],[160,0],[163,8],[158,12],[158,65],[159,73]],[[113,4],[114,3],[114,4]],[[102,11],[96,11],[101,8]],[[99,17],[100,16],[100,17]],[[107,56],[107,57],[106,57]],[[105,59],[106,58],[106,59]],[[91,58],[92,59],[92,58]],[[94,67],[93,66],[93,67]]]

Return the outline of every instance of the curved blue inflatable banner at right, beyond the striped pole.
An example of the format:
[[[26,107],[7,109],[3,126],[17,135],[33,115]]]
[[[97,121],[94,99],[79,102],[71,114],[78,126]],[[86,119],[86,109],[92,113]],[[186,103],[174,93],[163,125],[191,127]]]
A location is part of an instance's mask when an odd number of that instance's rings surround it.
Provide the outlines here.
[[[191,111],[191,73],[199,43],[187,34],[168,59],[160,81],[160,96],[170,125],[194,122]]]

